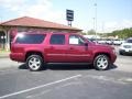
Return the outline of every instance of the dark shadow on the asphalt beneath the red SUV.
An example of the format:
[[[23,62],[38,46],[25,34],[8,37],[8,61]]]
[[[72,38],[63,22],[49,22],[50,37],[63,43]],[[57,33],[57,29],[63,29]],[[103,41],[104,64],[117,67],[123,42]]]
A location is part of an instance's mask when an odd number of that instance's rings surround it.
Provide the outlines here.
[[[111,69],[116,69],[118,68],[118,66],[116,65],[111,65],[109,67],[109,70]],[[19,69],[29,69],[26,67],[25,64],[22,64],[19,66]],[[51,70],[90,70],[90,69],[95,69],[92,65],[66,65],[66,64],[52,64],[52,65],[46,65],[45,68],[43,68],[42,70],[45,69],[51,69]]]

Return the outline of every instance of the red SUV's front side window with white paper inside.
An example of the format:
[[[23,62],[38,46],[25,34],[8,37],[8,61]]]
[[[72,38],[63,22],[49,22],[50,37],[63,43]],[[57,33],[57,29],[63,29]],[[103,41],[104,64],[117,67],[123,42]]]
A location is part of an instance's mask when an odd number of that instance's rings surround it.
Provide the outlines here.
[[[84,45],[85,40],[81,36],[78,36],[78,35],[70,35],[69,36],[69,44]]]

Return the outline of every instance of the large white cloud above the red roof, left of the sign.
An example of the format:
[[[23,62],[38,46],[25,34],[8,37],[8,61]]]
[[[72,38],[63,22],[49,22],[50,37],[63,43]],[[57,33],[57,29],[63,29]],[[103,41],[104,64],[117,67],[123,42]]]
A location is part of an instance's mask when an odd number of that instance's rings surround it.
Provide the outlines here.
[[[33,16],[65,24],[65,12],[55,10],[51,0],[0,0],[0,6],[19,16]]]

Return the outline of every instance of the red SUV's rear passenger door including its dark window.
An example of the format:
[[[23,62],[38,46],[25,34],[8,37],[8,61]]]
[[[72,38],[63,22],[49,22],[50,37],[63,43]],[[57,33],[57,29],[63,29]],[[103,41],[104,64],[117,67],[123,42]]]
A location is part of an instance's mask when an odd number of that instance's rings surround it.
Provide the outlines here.
[[[52,34],[50,44],[46,48],[46,58],[50,63],[64,63],[66,62],[66,41],[65,34]]]

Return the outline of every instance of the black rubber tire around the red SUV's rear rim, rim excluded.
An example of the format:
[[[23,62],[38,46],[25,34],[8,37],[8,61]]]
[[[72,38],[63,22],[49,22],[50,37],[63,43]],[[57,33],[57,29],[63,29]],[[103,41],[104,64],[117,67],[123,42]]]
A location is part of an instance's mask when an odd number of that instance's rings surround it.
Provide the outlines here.
[[[38,69],[32,69],[30,66],[29,66],[29,61],[32,58],[32,57],[36,57],[36,58],[38,58],[40,59],[40,62],[41,62],[41,66],[38,67]],[[28,57],[28,59],[26,59],[26,66],[29,67],[29,69],[31,70],[31,72],[37,72],[37,70],[41,70],[42,69],[42,67],[43,67],[43,59],[42,59],[42,57],[40,56],[40,55],[30,55],[29,57]]]

